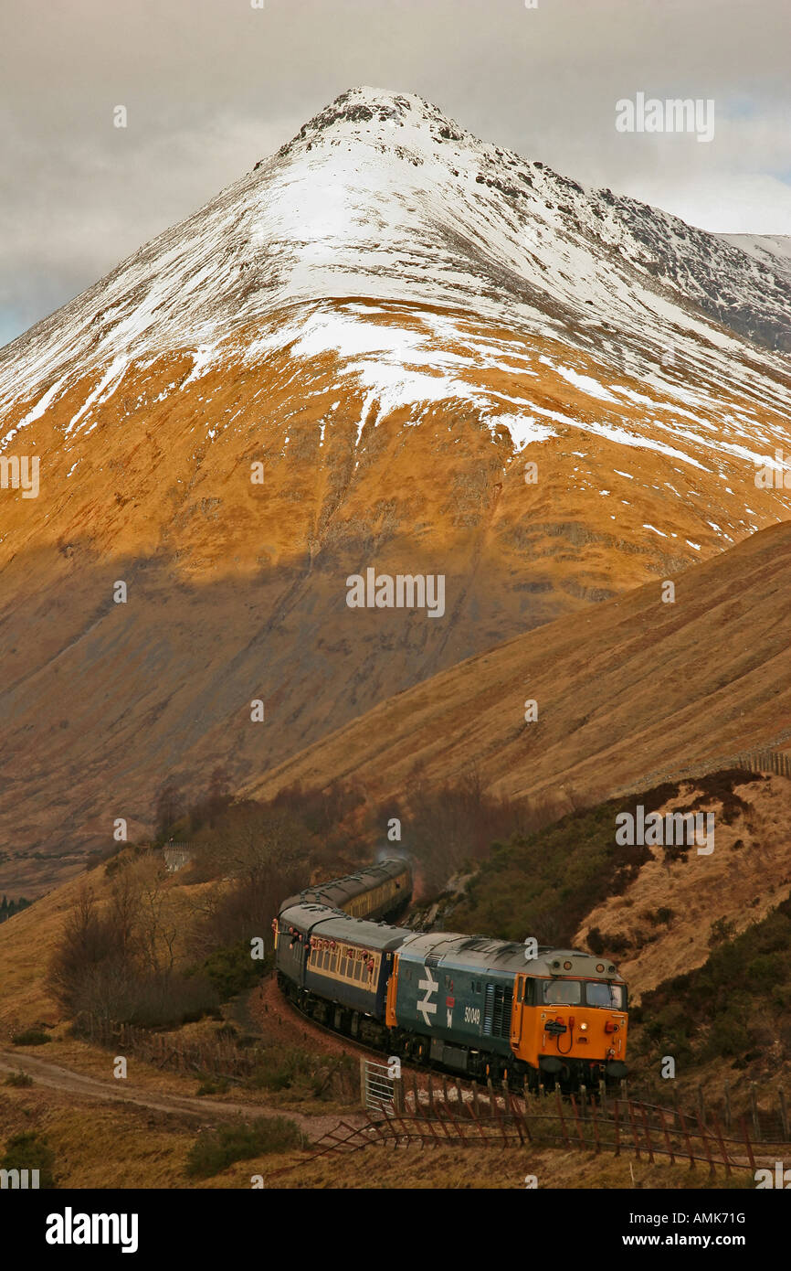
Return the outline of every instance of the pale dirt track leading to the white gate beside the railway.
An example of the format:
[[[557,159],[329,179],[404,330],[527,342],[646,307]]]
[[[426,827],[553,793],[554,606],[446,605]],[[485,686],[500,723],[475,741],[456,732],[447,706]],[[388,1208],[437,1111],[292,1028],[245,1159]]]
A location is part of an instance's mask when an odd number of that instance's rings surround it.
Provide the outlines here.
[[[77,1094],[89,1099],[103,1099],[110,1103],[132,1103],[137,1107],[154,1112],[169,1112],[175,1116],[193,1117],[199,1121],[216,1121],[223,1117],[272,1117],[287,1116],[296,1121],[300,1129],[311,1141],[320,1139],[328,1130],[338,1125],[336,1116],[303,1116],[300,1112],[276,1111],[262,1107],[259,1103],[230,1103],[216,1099],[193,1098],[188,1094],[161,1094],[149,1093],[130,1084],[128,1078],[121,1083],[117,1080],[103,1082],[96,1077],[88,1077],[75,1073],[72,1069],[61,1068],[38,1055],[27,1055],[19,1051],[0,1050],[1,1073],[27,1073],[38,1085],[47,1085],[55,1091],[63,1091],[67,1094]],[[356,1124],[364,1122],[363,1116],[347,1116],[347,1121]]]

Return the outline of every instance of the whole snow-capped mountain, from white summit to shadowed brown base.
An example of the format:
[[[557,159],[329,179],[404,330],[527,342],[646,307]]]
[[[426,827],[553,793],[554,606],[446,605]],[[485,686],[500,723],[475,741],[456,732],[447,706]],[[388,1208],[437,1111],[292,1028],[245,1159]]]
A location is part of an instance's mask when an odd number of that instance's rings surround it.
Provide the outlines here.
[[[791,285],[750,244],[354,89],[1,350],[41,492],[0,491],[0,834],[145,827],[168,771],[250,777],[786,519]],[[441,572],[443,620],[350,610],[369,566]]]

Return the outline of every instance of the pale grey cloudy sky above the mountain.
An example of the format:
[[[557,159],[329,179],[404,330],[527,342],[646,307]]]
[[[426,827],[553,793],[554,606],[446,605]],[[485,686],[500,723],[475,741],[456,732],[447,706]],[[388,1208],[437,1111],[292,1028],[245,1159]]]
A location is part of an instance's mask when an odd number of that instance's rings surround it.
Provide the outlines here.
[[[0,344],[359,84],[703,229],[791,234],[791,0],[532,5],[1,0]],[[637,93],[714,100],[714,139],[617,131]]]

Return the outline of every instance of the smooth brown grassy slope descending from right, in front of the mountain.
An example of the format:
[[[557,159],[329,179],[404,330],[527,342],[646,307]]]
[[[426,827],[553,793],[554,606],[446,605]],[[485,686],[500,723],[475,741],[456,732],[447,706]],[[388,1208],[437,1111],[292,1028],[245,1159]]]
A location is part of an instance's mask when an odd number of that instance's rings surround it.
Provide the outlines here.
[[[791,738],[791,524],[470,658],[296,756],[251,789],[354,774],[406,789],[472,765],[512,797],[569,806],[645,789]],[[536,722],[524,703],[537,702]]]

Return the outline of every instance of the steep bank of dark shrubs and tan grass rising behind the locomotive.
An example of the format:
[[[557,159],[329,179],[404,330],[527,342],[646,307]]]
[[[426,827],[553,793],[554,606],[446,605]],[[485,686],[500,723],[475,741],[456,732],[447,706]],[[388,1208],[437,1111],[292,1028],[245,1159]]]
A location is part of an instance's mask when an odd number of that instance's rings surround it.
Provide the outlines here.
[[[616,819],[637,806],[646,815],[712,813],[712,850],[620,845]],[[442,923],[607,952],[640,1000],[777,905],[791,886],[790,813],[787,778],[733,769],[667,782],[496,846]]]

